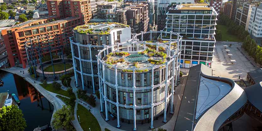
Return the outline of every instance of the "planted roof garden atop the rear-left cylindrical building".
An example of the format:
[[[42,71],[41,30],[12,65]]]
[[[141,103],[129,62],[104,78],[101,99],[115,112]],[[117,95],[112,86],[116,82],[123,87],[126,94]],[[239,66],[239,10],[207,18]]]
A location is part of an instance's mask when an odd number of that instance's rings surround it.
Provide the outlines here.
[[[107,22],[107,23],[89,23],[86,25],[80,25],[73,29],[74,32],[81,34],[98,34],[106,35],[109,34],[111,30],[117,28],[127,28],[129,25]]]

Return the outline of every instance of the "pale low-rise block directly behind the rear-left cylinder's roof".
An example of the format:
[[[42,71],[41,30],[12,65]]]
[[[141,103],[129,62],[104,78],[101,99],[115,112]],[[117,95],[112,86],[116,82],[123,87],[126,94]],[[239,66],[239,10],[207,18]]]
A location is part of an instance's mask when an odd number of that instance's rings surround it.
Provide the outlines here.
[[[117,1],[104,2],[97,5],[97,18],[107,19],[106,15],[116,11]]]

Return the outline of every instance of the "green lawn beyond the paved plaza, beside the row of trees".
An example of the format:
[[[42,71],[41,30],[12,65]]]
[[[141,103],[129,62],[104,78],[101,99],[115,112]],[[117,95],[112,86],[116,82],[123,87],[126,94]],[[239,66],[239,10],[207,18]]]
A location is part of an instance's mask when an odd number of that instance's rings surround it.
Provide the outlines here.
[[[241,40],[238,39],[236,35],[231,35],[227,32],[227,26],[226,25],[216,25],[217,30],[221,30],[222,33],[222,41],[236,41],[241,42]]]

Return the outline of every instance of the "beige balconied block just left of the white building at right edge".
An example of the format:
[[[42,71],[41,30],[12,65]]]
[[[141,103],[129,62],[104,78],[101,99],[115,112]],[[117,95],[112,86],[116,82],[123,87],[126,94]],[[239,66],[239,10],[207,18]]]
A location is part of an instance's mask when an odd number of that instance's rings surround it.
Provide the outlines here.
[[[248,30],[250,15],[251,15],[251,12],[252,12],[252,7],[257,6],[258,4],[259,4],[258,2],[253,2],[253,3],[245,2],[245,3],[243,3],[242,8],[237,8],[237,14],[236,14],[235,22],[238,25],[244,26],[245,30]]]

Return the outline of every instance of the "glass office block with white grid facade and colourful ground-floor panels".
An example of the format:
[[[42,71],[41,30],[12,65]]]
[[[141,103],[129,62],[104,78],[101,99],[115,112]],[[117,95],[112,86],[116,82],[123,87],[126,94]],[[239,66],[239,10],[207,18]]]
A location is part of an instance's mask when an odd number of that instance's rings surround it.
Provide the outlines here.
[[[190,68],[200,63],[212,66],[217,15],[207,3],[178,4],[169,9],[164,30],[183,36],[181,67]]]

